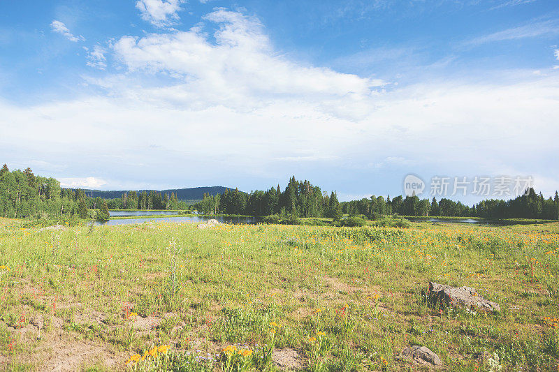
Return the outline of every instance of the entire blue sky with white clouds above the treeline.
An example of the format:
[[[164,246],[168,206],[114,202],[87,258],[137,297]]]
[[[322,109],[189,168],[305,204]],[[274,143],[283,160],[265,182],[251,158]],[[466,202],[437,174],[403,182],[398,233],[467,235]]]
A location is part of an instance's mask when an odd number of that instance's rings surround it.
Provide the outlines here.
[[[556,0],[1,1],[0,163],[101,190],[549,196],[558,45]]]

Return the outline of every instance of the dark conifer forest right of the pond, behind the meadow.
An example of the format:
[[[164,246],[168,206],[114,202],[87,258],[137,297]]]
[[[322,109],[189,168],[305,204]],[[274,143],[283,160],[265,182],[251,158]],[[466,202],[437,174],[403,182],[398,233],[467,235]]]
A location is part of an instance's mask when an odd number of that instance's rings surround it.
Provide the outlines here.
[[[559,195],[546,199],[533,188],[526,195],[513,200],[483,200],[472,207],[449,199],[419,199],[417,196],[401,195],[390,199],[372,196],[350,202],[338,202],[335,192],[329,195],[309,181],[289,179],[284,191],[279,185],[268,191],[226,190],[221,195],[205,195],[195,207],[204,214],[246,214],[249,216],[294,215],[298,217],[340,218],[343,214],[361,215],[375,220],[381,216],[463,216],[488,219],[540,218],[559,219]]]

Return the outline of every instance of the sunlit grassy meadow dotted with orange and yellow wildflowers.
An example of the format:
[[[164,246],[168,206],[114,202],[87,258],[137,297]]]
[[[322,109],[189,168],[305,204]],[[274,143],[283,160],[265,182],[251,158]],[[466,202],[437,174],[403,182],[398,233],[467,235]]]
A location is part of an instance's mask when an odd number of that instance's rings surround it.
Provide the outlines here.
[[[0,370],[558,371],[559,224],[0,223]],[[499,313],[428,306],[429,281]]]

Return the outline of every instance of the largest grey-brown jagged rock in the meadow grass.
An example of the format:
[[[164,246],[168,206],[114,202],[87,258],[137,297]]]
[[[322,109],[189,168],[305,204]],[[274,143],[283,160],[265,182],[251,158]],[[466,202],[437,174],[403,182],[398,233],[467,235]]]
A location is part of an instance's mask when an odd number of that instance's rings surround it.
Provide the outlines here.
[[[498,304],[484,299],[477,294],[477,290],[470,287],[452,287],[451,285],[429,282],[429,299],[433,304],[443,302],[446,306],[475,307],[485,311],[501,310]]]

